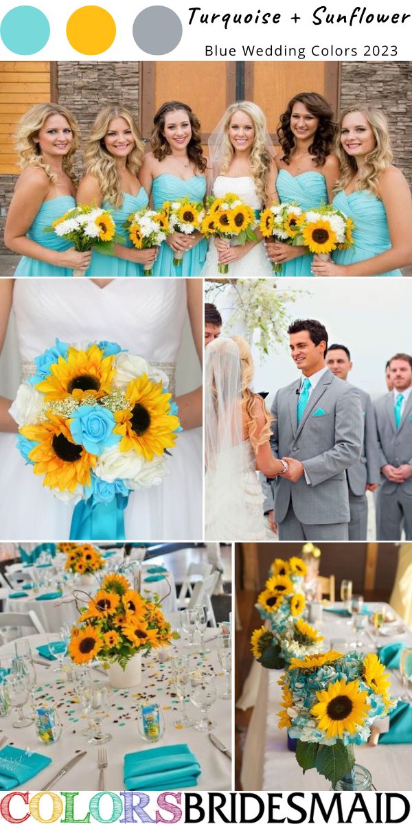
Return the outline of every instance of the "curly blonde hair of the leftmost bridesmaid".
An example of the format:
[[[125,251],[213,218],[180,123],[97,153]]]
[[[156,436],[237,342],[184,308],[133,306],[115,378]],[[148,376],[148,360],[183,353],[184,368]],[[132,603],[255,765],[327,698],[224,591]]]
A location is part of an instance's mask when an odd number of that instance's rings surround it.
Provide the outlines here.
[[[44,162],[40,143],[35,141],[40,129],[43,129],[46,120],[52,115],[64,117],[68,121],[70,129],[72,129],[73,141],[67,155],[63,157],[62,166],[66,175],[74,180],[72,171],[73,155],[80,143],[80,128],[77,119],[73,117],[71,112],[57,103],[38,103],[26,111],[26,115],[22,116],[16,130],[16,152],[19,155],[19,166],[21,166],[21,169],[26,169],[27,166],[38,166],[45,171],[52,183],[57,180],[57,175],[49,166],[49,163]]]

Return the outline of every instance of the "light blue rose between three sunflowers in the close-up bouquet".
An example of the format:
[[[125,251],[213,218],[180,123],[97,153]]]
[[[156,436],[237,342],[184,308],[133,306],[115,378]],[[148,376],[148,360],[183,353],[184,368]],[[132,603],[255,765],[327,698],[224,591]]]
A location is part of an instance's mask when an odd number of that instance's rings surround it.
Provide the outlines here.
[[[73,441],[82,444],[91,455],[102,455],[119,442],[120,435],[113,434],[114,428],[113,413],[104,406],[79,406],[70,421]]]

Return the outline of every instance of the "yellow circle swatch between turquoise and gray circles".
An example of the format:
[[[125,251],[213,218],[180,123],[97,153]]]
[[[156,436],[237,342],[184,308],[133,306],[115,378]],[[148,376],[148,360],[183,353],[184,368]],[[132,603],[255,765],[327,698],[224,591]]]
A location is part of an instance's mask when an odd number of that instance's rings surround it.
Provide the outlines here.
[[[101,54],[110,49],[116,36],[116,24],[105,8],[82,6],[68,19],[68,42],[81,54]]]

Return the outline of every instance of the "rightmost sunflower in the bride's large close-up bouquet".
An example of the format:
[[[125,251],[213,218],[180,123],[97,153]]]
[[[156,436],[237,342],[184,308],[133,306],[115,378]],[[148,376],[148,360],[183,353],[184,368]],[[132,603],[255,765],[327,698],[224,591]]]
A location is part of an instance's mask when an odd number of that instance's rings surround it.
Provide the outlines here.
[[[116,426],[113,432],[121,436],[120,452],[134,449],[147,461],[153,455],[162,455],[165,449],[174,447],[179,418],[169,414],[171,395],[164,392],[162,382],[153,383],[147,375],[131,381],[126,389],[129,409],[115,412]]]

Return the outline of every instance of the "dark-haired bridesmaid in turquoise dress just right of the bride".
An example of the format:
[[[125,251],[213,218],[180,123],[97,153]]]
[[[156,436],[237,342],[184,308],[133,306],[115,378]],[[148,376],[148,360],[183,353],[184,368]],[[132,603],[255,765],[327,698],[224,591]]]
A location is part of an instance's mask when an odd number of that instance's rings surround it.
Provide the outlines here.
[[[276,190],[281,203],[307,210],[329,203],[339,175],[332,153],[335,134],[333,111],[325,98],[302,92],[288,102],[278,129],[281,152],[276,156]],[[269,260],[282,264],[280,277],[311,277],[313,255],[302,246],[267,241]]]

